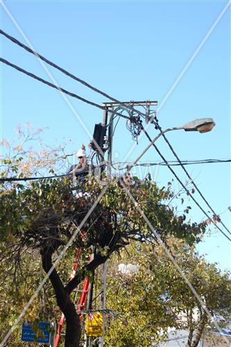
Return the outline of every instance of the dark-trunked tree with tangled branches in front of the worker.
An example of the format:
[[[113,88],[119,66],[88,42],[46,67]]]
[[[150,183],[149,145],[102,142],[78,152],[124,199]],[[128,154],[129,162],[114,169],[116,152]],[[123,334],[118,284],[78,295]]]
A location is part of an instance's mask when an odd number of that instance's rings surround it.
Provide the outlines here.
[[[31,137],[28,135],[27,139]],[[5,145],[10,149],[8,142],[5,142]],[[2,159],[1,177],[23,178],[25,173],[32,175],[38,170],[45,173],[53,172],[57,167],[62,167],[59,151],[60,149],[51,150],[51,160],[49,150],[46,150],[42,160],[37,160],[40,155],[31,155],[31,149],[24,150],[22,144],[15,146],[9,150],[8,156]],[[65,155],[62,155],[61,163],[64,159]],[[66,347],[78,346],[80,341],[80,318],[71,300],[71,292],[76,286],[85,276],[103,264],[114,251],[128,245],[130,240],[143,242],[145,239],[152,239],[157,242],[153,232],[132,205],[123,186],[119,185],[117,179],[110,182],[107,178],[104,180],[108,185],[105,194],[83,228],[78,231],[67,253],[73,255],[76,248],[81,247],[87,257],[92,253],[93,247],[94,260],[80,266],[76,276],[69,282],[67,277],[59,273],[58,268],[49,275],[57,304],[65,314]],[[76,196],[74,189],[82,189],[88,193],[87,197],[84,194]],[[92,178],[90,184],[86,182],[81,185],[79,182],[78,187],[67,178],[40,179],[23,184],[2,182],[0,235],[3,259],[7,260],[10,257],[11,271],[15,271],[15,276],[20,269],[22,254],[30,249],[39,251],[42,267],[49,273],[58,253],[71,240],[102,189],[103,186],[95,178]],[[167,189],[159,189],[155,183],[141,182],[139,189],[129,189],[163,240],[166,235],[175,235],[187,239],[187,242],[192,244],[205,232],[205,223],[186,223],[185,215],[176,215],[174,210],[165,204],[165,201],[169,201],[173,196],[170,186]]]

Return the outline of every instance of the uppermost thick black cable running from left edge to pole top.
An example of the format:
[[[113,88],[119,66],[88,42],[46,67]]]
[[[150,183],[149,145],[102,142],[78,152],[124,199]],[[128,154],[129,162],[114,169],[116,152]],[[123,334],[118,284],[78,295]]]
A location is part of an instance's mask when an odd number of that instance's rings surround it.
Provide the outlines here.
[[[145,117],[145,114],[140,112],[139,110],[136,110],[135,108],[133,108],[131,105],[122,103],[121,101],[114,99],[112,96],[106,94],[105,92],[102,92],[101,90],[99,90],[96,87],[93,87],[92,85],[89,85],[89,83],[83,81],[81,78],[78,78],[77,76],[75,76],[74,74],[71,74],[69,71],[63,69],[62,67],[59,67],[58,65],[56,65],[55,63],[51,62],[50,60],[44,58],[44,56],[41,56],[41,54],[37,53],[36,51],[34,51],[33,49],[31,49],[30,47],[26,46],[25,44],[23,44],[22,42],[19,42],[19,40],[17,40],[15,37],[10,36],[8,33],[5,33],[5,31],[0,30],[0,34],[4,35],[5,37],[8,38],[8,40],[14,42],[15,44],[17,44],[18,46],[22,47],[23,49],[26,49],[26,51],[28,51],[29,53],[32,53],[34,56],[36,56],[37,58],[40,58],[41,60],[43,60],[44,62],[46,62],[47,64],[51,65],[52,67],[55,67],[55,69],[58,69],[59,71],[61,71],[63,74],[73,78],[75,81],[85,85],[85,87],[93,90],[96,93],[99,93],[103,96],[105,96],[105,98],[110,99],[111,101],[114,101],[116,103],[119,103],[120,105],[125,106],[126,108],[129,108],[130,110],[134,111],[135,113],[137,113],[138,115],[142,115]],[[70,95],[70,94],[69,94]],[[73,96],[73,95],[71,95]],[[76,96],[74,96],[76,97]],[[78,99],[80,99],[80,97],[78,97]],[[80,99],[81,101],[84,101],[83,98]],[[86,101],[84,101],[86,102]],[[93,105],[93,103],[90,103],[91,105]],[[94,104],[94,106],[96,106],[96,104]],[[96,106],[98,107],[98,106]],[[104,110],[104,108],[103,108]]]

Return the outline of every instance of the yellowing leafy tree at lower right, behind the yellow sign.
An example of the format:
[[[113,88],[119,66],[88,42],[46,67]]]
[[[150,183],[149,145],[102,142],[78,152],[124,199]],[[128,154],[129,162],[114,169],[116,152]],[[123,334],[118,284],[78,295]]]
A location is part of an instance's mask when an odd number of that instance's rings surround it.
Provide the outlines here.
[[[189,289],[162,246],[132,244],[110,262],[108,308],[118,313],[110,321],[107,346],[151,346],[166,339],[169,328],[189,332],[187,346],[196,347],[204,332],[230,323],[230,273],[209,264],[194,246],[169,239],[176,262],[205,303],[211,317]],[[139,266],[138,273],[121,273],[119,263]]]

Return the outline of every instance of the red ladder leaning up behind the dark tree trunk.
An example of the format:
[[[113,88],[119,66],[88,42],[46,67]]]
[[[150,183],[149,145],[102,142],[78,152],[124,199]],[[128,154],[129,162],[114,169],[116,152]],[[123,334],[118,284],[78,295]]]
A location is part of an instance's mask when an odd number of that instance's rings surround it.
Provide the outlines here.
[[[80,259],[80,253],[81,253],[81,248],[79,247],[77,252],[76,252],[76,259],[72,267],[72,272],[69,280],[72,280],[74,276],[76,275],[76,270],[78,268],[78,262]],[[80,299],[78,301],[78,311],[84,310],[87,302],[87,294],[88,294],[88,289],[89,289],[89,279],[85,278],[84,283],[83,283],[83,289],[81,291]],[[80,319],[82,318],[83,314],[80,314]],[[60,343],[60,338],[61,338],[61,331],[62,331],[62,326],[63,323],[65,322],[65,315],[62,313],[60,322],[58,323],[58,329],[57,333],[55,335],[55,343],[54,347],[58,347],[58,344]]]

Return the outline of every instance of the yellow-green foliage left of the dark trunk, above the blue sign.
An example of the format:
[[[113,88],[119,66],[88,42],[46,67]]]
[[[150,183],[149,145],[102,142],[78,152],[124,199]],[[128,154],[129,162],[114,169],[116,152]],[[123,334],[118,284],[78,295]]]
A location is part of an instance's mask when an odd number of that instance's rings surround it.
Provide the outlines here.
[[[36,251],[24,252],[20,261],[20,269],[15,276],[12,257],[5,257],[0,262],[0,339],[6,335],[7,325],[12,325],[19,314],[24,310],[37,286],[44,278],[44,271],[40,264],[40,256]],[[63,271],[63,269],[62,269]],[[24,320],[27,321],[53,321],[55,310],[53,290],[49,282],[46,282],[37,298],[32,303],[30,310],[26,312]],[[34,328],[36,325],[34,324]],[[7,341],[7,346],[17,347],[21,341],[22,326],[18,325],[14,334]],[[40,331],[37,330],[37,333]],[[32,344],[37,346],[37,344]]]

